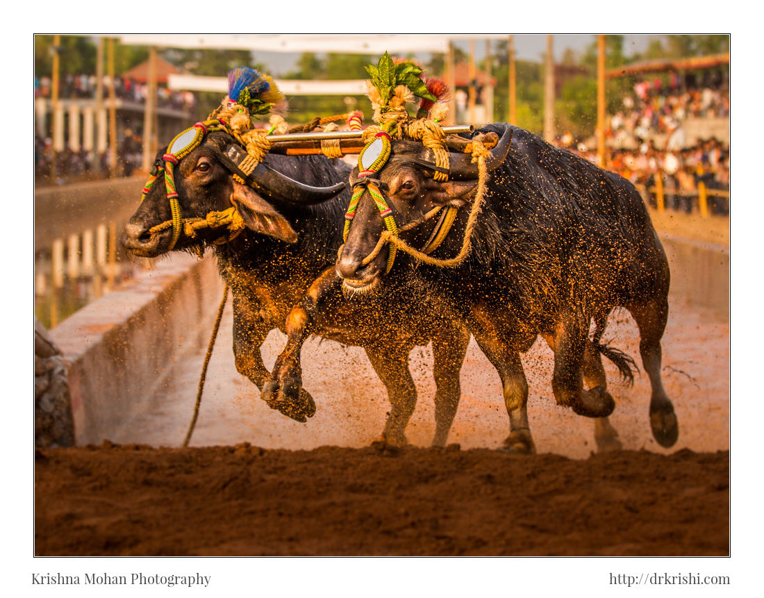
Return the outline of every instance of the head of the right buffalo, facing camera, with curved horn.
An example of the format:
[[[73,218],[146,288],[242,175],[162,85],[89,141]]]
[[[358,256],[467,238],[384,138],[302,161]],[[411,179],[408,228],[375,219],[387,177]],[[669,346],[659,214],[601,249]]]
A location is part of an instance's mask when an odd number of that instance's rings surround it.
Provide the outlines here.
[[[499,139],[491,156],[486,160],[487,170],[496,170],[510,150],[512,129],[507,128]],[[419,221],[435,208],[468,205],[478,189],[478,164],[471,163],[470,154],[449,155],[448,179],[435,180],[436,169],[432,150],[413,141],[395,141],[390,159],[377,173],[375,186],[380,190],[393,218],[400,228],[407,223]],[[363,183],[358,168],[351,173],[350,183]],[[406,243],[419,249],[432,238],[437,218],[422,222],[400,233]],[[388,251],[380,251],[376,257],[364,263],[374,252],[385,230],[380,209],[370,192],[364,192],[351,220],[345,245],[338,255],[336,270],[343,279],[345,289],[363,292],[374,289],[387,269]]]

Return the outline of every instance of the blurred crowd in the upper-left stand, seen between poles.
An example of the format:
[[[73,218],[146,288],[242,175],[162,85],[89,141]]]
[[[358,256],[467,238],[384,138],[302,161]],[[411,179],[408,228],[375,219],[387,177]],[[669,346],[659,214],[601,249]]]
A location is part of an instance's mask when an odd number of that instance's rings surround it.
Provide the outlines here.
[[[108,76],[103,78],[104,98],[108,98]],[[34,97],[50,98],[50,77],[34,78]],[[59,97],[61,99],[94,99],[95,75],[66,75],[61,78]],[[115,95],[125,102],[146,102],[148,86],[146,83],[117,76],[114,79]],[[160,108],[193,110],[196,107],[196,95],[189,91],[173,92],[167,87],[157,87],[157,105]]]

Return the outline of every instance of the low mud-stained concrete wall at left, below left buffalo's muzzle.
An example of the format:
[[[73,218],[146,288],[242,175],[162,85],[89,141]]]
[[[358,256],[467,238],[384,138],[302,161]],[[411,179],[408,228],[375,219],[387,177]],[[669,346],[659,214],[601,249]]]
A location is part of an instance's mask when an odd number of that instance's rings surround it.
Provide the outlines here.
[[[214,258],[172,254],[50,331],[68,364],[77,444],[115,435],[173,360],[206,347],[223,286]]]

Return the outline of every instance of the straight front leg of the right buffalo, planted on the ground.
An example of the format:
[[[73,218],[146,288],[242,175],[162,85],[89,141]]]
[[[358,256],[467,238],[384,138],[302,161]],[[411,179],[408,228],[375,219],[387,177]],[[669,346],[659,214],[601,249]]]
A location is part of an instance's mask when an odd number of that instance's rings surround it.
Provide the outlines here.
[[[520,353],[501,338],[490,315],[479,309],[473,309],[471,315],[470,331],[475,342],[501,378],[504,405],[510,416],[510,435],[504,441],[504,448],[510,453],[533,454],[536,446],[528,425],[528,381]]]

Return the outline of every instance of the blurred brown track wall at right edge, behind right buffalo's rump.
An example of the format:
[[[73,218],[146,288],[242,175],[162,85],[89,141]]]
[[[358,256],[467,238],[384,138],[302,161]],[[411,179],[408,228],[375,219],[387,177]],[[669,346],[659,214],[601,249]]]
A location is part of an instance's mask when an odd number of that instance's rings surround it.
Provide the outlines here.
[[[669,258],[675,299],[714,309],[730,319],[730,250],[727,247],[659,233]]]

